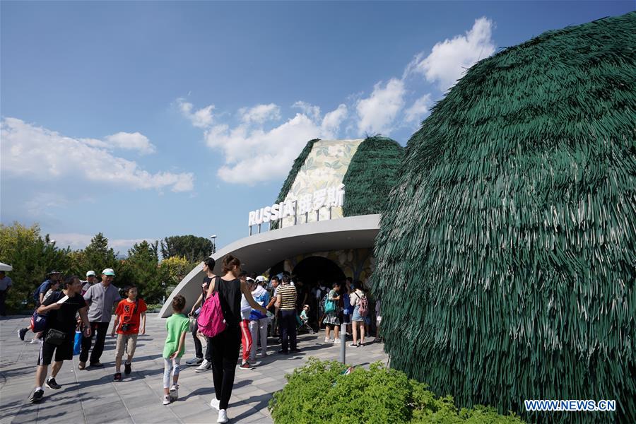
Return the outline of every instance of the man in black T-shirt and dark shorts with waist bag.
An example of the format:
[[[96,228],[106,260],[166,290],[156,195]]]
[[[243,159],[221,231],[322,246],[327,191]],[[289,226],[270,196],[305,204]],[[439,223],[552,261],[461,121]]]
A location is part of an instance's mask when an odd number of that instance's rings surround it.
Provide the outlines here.
[[[55,355],[55,362],[51,370],[51,377],[47,379],[46,386],[49,389],[59,389],[61,386],[55,381],[57,373],[61,369],[64,360],[73,359],[73,341],[75,338],[75,327],[77,324],[75,315],[79,312],[82,322],[86,327],[86,336],[90,336],[90,325],[86,301],[81,295],[82,284],[78,276],[66,278],[61,292],[56,292],[46,298],[40,307],[38,314],[47,314],[47,329],[42,335],[42,346],[40,355],[37,358],[37,372],[35,373],[35,391],[30,401],[37,404],[42,400],[49,364]],[[49,343],[47,336],[52,330],[61,331],[64,340],[59,344]]]

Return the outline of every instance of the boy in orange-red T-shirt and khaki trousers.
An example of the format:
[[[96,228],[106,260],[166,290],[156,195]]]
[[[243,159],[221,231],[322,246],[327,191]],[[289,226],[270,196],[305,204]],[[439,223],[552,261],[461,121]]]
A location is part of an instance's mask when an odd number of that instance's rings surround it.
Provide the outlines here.
[[[139,323],[141,320],[141,334],[146,334],[146,302],[137,299],[137,288],[132,285],[126,288],[124,300],[119,302],[115,310],[115,321],[112,326],[111,336],[117,331],[117,348],[115,349],[115,375],[114,381],[122,381],[122,357],[124,356],[124,346],[128,359],[124,363],[124,372],[129,375],[131,372],[131,361],[137,346],[137,335],[140,332]]]

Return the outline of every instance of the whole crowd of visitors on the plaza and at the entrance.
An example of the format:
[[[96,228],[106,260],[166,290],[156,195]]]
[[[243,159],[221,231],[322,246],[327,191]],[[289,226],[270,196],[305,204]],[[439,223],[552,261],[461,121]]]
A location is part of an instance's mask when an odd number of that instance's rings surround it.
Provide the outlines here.
[[[353,336],[349,346],[365,345],[365,337],[370,334],[371,314],[361,281],[347,278],[335,281],[331,288],[319,281],[315,287],[307,288],[285,272],[271,276],[269,281],[265,276],[249,276],[242,271],[240,260],[230,255],[223,259],[222,276],[213,273],[215,265],[212,258],[204,261],[201,292],[189,313],[184,313],[187,300],[182,295],[172,300],[173,313],[165,322],[163,348],[164,405],[178,399],[179,370],[188,334],[192,334],[194,340],[194,358],[184,364],[196,365],[196,372],[212,370],[215,397],[210,405],[218,411],[218,423],[228,422],[227,408],[237,364],[240,363],[240,370],[252,370],[258,365],[257,357],[269,354],[268,336],[278,337],[277,342],[281,344],[278,353],[289,355],[300,351],[299,329],[313,334],[314,329],[319,331],[324,326],[325,342],[337,344],[341,342],[340,326],[346,324],[348,336]],[[11,286],[7,278],[4,273],[0,274],[0,283],[6,286],[4,290]],[[80,370],[103,366],[100,358],[113,309],[115,318],[110,335],[117,336],[113,380],[122,381],[124,353],[124,375],[131,373],[137,338],[146,333],[146,302],[138,297],[139,292],[133,285],[124,287],[122,298],[119,288],[112,284],[113,269],[104,269],[100,281],[95,271],[88,271],[86,278],[80,281],[78,276],[70,276],[61,282],[61,273],[51,271],[33,293],[34,319],[30,326],[18,331],[23,341],[27,331],[34,331],[34,341],[41,343],[35,389],[30,398],[33,403],[41,401],[44,386],[61,387],[55,378],[64,360],[72,359],[74,347],[75,353],[79,353]],[[382,320],[379,307],[380,302],[376,300],[376,336]],[[220,317],[216,324],[213,323],[215,314]],[[215,325],[218,328],[213,329]],[[47,379],[52,362],[51,376]]]

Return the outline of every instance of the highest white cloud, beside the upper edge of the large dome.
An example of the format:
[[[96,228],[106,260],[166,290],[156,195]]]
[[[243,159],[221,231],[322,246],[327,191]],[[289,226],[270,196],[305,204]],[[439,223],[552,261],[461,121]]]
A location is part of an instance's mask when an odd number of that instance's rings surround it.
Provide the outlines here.
[[[423,54],[416,56],[405,73],[412,70],[423,73],[428,81],[437,83],[440,90],[454,86],[466,69],[495,52],[495,44],[491,39],[493,25],[488,18],[476,19],[466,35],[456,35],[452,40],[438,42],[425,59],[421,59]]]

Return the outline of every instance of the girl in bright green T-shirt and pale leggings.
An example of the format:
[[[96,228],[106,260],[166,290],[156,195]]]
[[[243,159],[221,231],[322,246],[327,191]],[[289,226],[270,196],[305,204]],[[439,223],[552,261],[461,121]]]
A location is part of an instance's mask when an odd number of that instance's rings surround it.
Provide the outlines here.
[[[163,404],[170,404],[179,397],[179,363],[185,351],[185,336],[189,331],[190,320],[183,314],[185,298],[176,295],[172,300],[172,315],[165,320],[167,337],[163,346]],[[172,387],[170,387],[172,372]],[[168,389],[170,387],[170,389]]]

